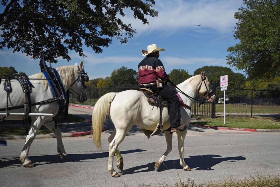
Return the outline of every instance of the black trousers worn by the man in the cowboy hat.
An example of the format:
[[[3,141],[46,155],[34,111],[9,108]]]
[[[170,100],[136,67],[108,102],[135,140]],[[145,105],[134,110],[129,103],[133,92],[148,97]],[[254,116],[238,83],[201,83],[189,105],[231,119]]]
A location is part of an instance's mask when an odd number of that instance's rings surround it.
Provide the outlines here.
[[[177,95],[165,84],[163,84],[163,88],[157,88],[156,84],[149,86],[140,86],[145,88],[150,88],[156,93],[163,97],[166,101],[170,103],[170,124],[171,128],[180,126],[180,101]]]

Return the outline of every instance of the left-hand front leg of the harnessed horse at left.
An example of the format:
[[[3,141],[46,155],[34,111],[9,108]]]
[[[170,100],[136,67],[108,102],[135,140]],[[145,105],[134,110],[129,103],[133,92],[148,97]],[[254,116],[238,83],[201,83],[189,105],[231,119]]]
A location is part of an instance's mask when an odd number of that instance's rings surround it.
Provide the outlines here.
[[[38,130],[44,123],[44,120],[42,121],[41,118],[42,117],[36,117],[36,119],[32,120],[32,122],[31,122],[30,129],[29,129],[28,135],[26,137],[25,145],[23,146],[23,149],[19,156],[19,160],[21,161],[23,167],[26,167],[26,168],[34,167],[34,164],[28,158],[28,152],[29,152],[30,145],[33,142],[33,140],[35,139],[35,136],[36,136]]]

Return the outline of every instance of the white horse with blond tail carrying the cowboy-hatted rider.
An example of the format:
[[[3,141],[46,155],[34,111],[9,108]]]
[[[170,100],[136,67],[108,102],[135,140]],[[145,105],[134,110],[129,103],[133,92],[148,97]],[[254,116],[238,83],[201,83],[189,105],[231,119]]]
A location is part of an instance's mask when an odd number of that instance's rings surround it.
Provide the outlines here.
[[[182,90],[186,95],[184,95],[178,89],[178,93],[182,98],[183,102],[192,106],[196,95],[199,93],[205,97],[208,101],[213,102],[215,100],[215,95],[209,88],[210,82],[201,72],[201,75],[195,75],[191,78],[185,80],[177,87]],[[192,98],[191,98],[192,97]],[[182,120],[186,125],[190,123],[191,111],[187,107],[180,107]],[[113,133],[108,138],[110,142],[109,146],[109,161],[108,161],[108,171],[111,172],[113,177],[119,177],[120,175],[113,168],[113,158],[116,153],[117,156],[117,166],[119,170],[123,170],[123,158],[118,150],[119,144],[125,138],[125,135],[131,129],[133,125],[140,127],[141,129],[146,129],[149,131],[154,131],[159,122],[159,109],[147,102],[146,97],[137,90],[126,90],[119,93],[107,93],[102,96],[96,102],[92,112],[92,131],[93,140],[98,149],[101,149],[101,130],[102,125],[109,115],[109,118],[115,125]],[[163,130],[167,130],[170,127],[170,120],[167,112],[167,108],[162,109],[162,121]],[[184,131],[176,131],[178,135],[178,149],[180,153],[180,164],[184,170],[190,171],[190,167],[184,162],[184,140],[187,134],[187,129]],[[161,156],[158,162],[155,162],[154,168],[157,170],[161,163],[165,160],[166,156],[172,149],[172,134],[165,132],[165,138],[167,143],[167,150]]]

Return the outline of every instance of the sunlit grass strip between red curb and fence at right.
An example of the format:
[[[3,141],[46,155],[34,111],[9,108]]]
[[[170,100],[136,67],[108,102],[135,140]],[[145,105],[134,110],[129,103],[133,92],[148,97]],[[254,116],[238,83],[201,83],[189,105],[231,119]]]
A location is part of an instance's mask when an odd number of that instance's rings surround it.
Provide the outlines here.
[[[234,127],[234,128],[248,128],[248,129],[280,129],[280,117],[231,117],[226,116],[225,124],[224,117],[210,117],[198,118],[200,120],[191,122],[192,125],[204,125],[215,127]]]

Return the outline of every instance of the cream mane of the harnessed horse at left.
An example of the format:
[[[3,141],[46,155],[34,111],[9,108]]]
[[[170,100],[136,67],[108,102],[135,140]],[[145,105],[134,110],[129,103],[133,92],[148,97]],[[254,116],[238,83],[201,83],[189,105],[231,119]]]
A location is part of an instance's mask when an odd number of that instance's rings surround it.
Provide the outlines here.
[[[75,67],[74,66],[68,66],[68,65],[64,65],[64,66],[59,66],[57,68],[55,68],[59,74],[60,80],[62,82],[62,84],[64,85],[68,85],[70,86],[73,82],[74,82],[74,74],[75,74]],[[35,77],[38,79],[44,79],[46,78],[45,75],[41,72],[41,73],[37,73],[35,74]],[[41,80],[43,84],[46,85],[46,88],[48,86],[48,80],[44,79]]]

